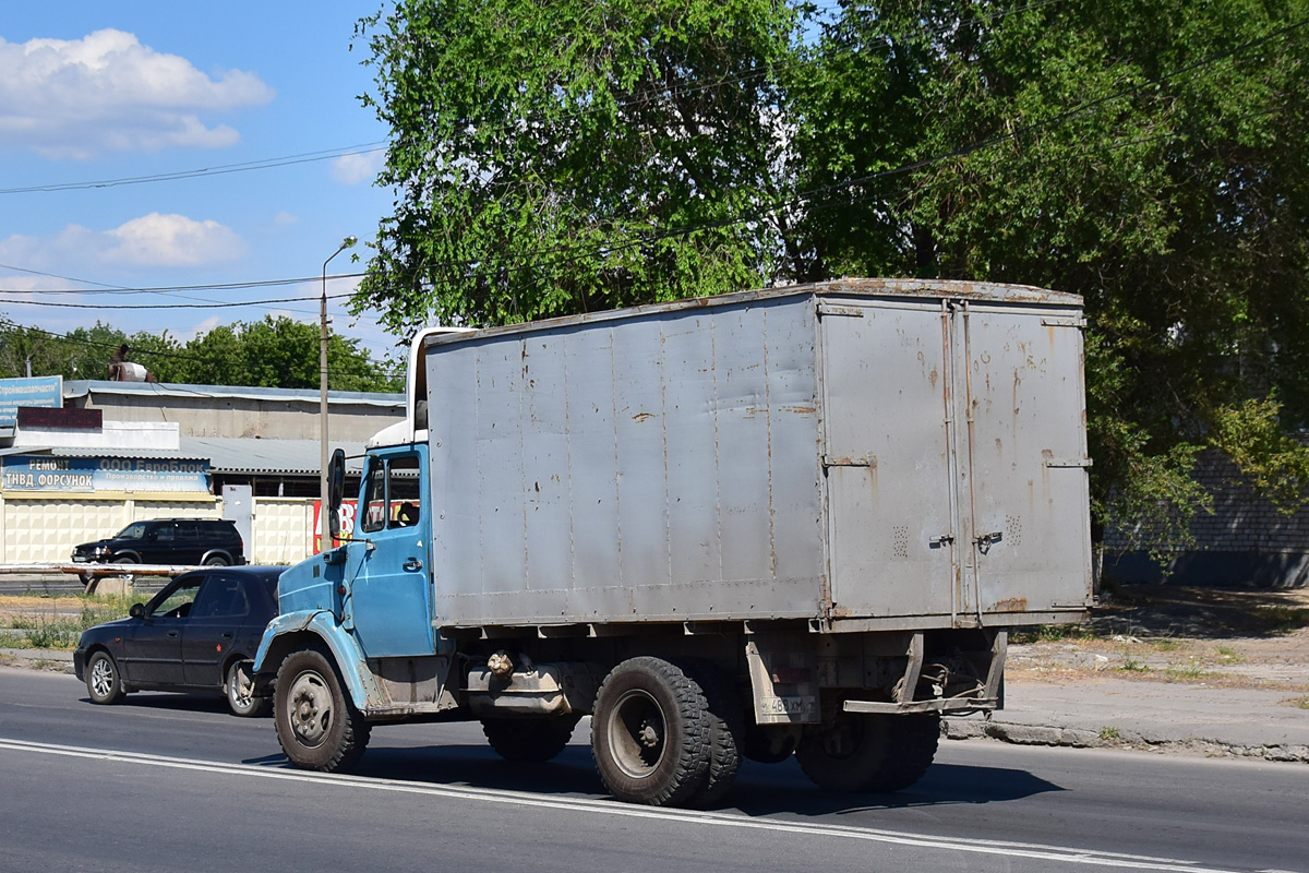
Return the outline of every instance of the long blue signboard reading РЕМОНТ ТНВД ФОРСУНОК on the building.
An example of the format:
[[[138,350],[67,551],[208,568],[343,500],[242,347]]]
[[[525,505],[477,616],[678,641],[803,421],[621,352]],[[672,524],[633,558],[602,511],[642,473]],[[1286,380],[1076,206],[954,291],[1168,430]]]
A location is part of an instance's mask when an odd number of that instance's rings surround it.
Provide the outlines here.
[[[4,458],[4,491],[209,491],[209,462],[173,458]]]

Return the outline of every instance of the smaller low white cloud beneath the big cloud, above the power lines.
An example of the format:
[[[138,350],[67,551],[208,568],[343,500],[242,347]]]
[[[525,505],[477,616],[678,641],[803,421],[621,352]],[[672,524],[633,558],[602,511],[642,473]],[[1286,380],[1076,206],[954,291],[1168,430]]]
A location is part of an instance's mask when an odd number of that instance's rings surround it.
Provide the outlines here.
[[[111,230],[71,224],[52,237],[12,236],[0,241],[0,262],[31,270],[72,272],[106,266],[198,267],[245,254],[245,241],[217,221],[152,212]],[[55,270],[58,267],[58,270]]]

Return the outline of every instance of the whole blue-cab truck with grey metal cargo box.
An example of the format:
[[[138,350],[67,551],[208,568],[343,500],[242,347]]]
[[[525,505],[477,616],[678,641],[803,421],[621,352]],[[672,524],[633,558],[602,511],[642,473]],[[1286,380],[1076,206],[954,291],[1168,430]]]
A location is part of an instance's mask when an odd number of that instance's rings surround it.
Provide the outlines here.
[[[539,763],[590,716],[624,801],[792,754],[908,787],[942,716],[1003,705],[1011,628],[1092,605],[1083,326],[861,279],[420,334],[353,529],[279,584],[283,750],[343,771],[373,725],[475,720]]]

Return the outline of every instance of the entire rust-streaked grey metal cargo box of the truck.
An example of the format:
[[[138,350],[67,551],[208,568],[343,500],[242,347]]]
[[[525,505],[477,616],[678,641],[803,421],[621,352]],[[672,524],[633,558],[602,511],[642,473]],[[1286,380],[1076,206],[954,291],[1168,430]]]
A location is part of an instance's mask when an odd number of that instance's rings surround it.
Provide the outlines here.
[[[847,280],[432,336],[435,623],[1081,615],[1081,327]]]

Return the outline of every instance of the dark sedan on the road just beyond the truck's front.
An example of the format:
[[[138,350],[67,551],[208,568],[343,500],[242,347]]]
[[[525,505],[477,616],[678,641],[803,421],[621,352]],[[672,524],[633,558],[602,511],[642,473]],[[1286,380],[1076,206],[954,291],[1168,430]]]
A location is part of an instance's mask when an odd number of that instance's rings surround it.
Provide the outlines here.
[[[238,716],[267,712],[251,696],[250,665],[278,614],[284,567],[213,567],[183,573],[128,618],[89,628],[73,653],[92,703],[128,691],[226,695]]]

